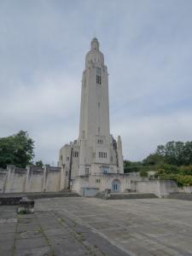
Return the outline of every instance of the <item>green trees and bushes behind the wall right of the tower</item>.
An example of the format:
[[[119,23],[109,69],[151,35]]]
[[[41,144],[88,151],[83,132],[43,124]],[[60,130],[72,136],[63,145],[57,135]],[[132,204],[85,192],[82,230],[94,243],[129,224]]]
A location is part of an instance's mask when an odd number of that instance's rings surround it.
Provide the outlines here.
[[[192,185],[192,142],[168,142],[158,145],[153,154],[143,161],[124,161],[125,172],[140,172],[148,177],[149,171],[154,171],[151,179],[171,179],[178,186]]]

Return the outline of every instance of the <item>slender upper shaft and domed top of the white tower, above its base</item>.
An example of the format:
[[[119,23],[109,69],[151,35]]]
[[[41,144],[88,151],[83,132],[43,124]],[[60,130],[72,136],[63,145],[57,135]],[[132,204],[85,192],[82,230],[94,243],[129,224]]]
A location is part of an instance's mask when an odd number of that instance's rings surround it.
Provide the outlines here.
[[[96,135],[109,139],[108,69],[93,38],[82,79],[79,139],[87,139],[91,146]]]

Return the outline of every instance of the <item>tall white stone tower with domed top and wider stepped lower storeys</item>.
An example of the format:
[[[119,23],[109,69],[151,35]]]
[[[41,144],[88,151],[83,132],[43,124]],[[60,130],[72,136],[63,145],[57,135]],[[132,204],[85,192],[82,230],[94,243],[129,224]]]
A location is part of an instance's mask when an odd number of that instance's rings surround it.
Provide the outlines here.
[[[96,38],[85,57],[79,138],[61,148],[59,166],[68,188],[79,177],[124,173],[121,139],[110,135],[108,68]]]

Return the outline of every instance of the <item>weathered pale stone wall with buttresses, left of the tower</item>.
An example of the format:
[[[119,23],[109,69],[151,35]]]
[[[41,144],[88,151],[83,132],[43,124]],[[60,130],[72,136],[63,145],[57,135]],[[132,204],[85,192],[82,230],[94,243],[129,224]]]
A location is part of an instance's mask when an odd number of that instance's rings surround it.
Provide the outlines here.
[[[8,166],[6,170],[0,169],[0,193],[60,191],[61,172],[60,167],[52,166]]]

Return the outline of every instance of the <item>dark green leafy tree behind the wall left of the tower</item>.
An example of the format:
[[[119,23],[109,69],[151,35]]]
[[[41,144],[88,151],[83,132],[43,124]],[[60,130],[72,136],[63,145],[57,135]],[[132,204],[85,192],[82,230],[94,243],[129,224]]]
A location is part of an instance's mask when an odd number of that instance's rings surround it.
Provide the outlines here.
[[[32,164],[34,141],[26,131],[0,138],[0,167],[7,165],[25,167]]]

